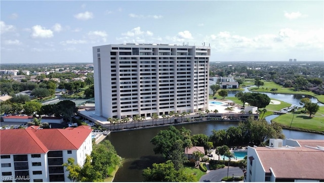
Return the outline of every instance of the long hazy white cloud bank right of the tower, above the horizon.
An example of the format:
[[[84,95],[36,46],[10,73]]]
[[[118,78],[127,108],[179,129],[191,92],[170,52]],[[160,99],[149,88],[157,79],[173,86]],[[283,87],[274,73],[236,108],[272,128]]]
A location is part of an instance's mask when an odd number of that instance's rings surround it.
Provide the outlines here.
[[[254,37],[235,35],[228,31],[211,34],[205,42],[219,53],[282,53],[312,50],[324,52],[323,29],[299,32],[289,28],[280,29],[273,34],[260,34]],[[260,54],[258,53],[258,54]]]

